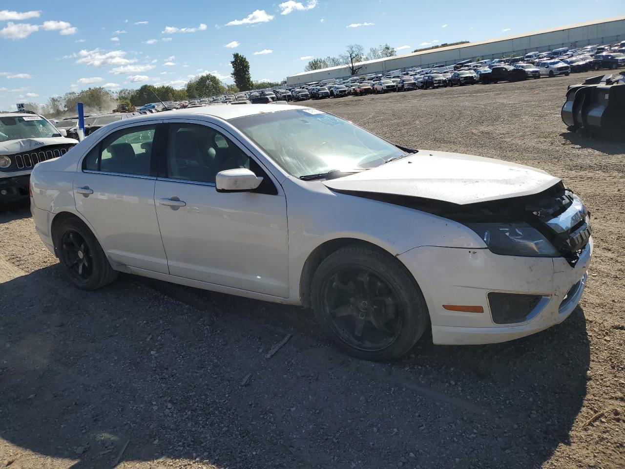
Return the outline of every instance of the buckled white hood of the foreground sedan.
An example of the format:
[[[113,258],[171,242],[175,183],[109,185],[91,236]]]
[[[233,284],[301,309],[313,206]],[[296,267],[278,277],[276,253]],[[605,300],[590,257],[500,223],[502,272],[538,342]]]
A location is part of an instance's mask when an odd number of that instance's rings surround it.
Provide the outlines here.
[[[339,192],[412,196],[469,204],[536,194],[559,178],[540,169],[482,156],[419,150],[377,168],[329,179]]]

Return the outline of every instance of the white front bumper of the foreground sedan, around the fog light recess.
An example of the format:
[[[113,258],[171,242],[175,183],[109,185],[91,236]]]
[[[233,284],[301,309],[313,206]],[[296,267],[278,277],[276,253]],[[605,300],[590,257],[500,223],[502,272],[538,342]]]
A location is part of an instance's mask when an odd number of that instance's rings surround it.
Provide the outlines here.
[[[571,267],[564,258],[500,256],[487,249],[421,246],[399,256],[426,299],[432,340],[442,345],[504,342],[564,321],[584,291],[592,238]],[[427,266],[424,271],[423,266]],[[541,295],[542,301],[521,323],[497,325],[488,293]],[[482,306],[484,313],[448,311],[442,305]]]

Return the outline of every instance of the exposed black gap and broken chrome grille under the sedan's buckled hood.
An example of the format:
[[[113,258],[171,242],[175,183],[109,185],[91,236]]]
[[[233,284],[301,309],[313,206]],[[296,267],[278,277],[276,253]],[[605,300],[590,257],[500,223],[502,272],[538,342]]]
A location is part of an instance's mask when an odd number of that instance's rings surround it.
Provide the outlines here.
[[[562,181],[537,194],[472,204],[397,194],[332,190],[412,208],[462,224],[527,223],[540,231],[571,266],[576,265],[592,233],[590,212]]]

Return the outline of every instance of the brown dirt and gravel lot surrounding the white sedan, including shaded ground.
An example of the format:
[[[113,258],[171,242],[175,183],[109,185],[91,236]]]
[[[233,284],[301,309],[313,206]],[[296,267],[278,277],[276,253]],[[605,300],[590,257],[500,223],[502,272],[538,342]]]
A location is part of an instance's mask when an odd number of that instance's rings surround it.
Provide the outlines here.
[[[85,293],[26,207],[0,214],[0,467],[110,468],[124,447],[120,468],[625,467],[625,146],[564,128],[581,78],[305,103],[413,148],[537,166],[582,196],[596,251],[581,305],[512,343],[426,337],[374,364],[298,308],[128,275]]]

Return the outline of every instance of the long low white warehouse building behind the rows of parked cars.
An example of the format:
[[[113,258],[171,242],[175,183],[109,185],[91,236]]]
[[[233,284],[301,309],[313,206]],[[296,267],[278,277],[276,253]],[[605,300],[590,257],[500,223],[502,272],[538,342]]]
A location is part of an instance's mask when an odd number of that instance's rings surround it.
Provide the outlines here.
[[[449,66],[467,59],[484,60],[522,56],[534,51],[547,52],[558,48],[582,48],[589,44],[612,44],[619,40],[625,40],[625,16],[586,21],[586,23],[544,29],[534,33],[517,34],[516,36],[491,39],[490,41],[458,44],[457,46],[369,60],[356,65],[361,67],[357,71],[357,75],[403,70],[411,67],[426,68],[437,64]],[[348,66],[337,66],[287,76],[286,85],[299,86],[324,79],[347,78],[349,76],[350,69]]]

